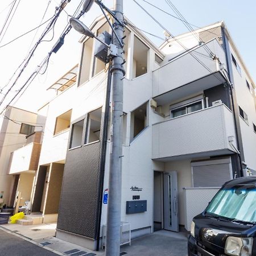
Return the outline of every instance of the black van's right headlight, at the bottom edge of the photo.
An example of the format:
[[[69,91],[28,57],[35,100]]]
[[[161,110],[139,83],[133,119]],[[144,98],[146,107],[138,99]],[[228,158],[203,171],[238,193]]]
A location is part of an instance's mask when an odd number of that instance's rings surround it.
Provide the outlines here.
[[[253,238],[228,237],[225,244],[225,254],[237,256],[251,256]]]

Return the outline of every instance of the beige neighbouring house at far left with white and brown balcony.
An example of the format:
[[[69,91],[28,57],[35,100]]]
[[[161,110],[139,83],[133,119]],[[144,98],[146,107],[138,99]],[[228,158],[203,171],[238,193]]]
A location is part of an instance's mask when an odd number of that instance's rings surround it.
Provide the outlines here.
[[[26,110],[9,106],[2,116],[0,192],[7,207],[13,207],[17,191],[22,192],[20,205],[31,199],[32,183],[37,170],[34,151],[39,156],[40,147],[28,143],[32,142],[31,138],[35,135],[38,138],[42,127],[36,127],[37,114]]]

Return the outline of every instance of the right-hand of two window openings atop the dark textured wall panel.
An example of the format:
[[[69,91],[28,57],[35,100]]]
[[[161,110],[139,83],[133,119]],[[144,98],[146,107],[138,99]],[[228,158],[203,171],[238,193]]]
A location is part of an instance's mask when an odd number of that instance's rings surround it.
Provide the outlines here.
[[[102,108],[88,113],[85,144],[100,141]]]

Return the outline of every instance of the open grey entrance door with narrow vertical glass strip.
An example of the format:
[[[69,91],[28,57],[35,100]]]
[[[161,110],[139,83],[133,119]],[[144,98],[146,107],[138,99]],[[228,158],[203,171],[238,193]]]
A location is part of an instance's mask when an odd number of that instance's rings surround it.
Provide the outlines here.
[[[164,229],[179,232],[177,172],[164,172]]]

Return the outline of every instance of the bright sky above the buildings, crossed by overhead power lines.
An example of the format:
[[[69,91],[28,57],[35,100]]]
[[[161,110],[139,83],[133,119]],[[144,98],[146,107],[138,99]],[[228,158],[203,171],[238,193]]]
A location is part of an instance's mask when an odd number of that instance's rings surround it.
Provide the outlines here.
[[[166,27],[167,30],[172,34],[179,35],[184,32],[188,32],[187,28],[180,20],[162,13],[161,11],[148,5],[148,3],[146,3],[144,0],[136,1],[147,9],[150,14],[154,15],[155,19],[163,24],[163,26]],[[158,6],[167,13],[175,15],[165,0],[147,1],[155,6]],[[9,5],[11,2],[13,2],[13,0],[6,0],[2,2],[3,3],[0,7],[0,31],[10,9]],[[46,15],[44,15],[43,22],[51,18],[55,12],[55,7],[59,5],[60,0],[17,0],[17,3],[18,2],[19,5],[8,29],[5,32],[5,35],[0,36],[0,87],[2,89],[0,100],[4,93],[6,93],[6,90],[8,90],[13,84],[14,80],[10,80],[10,78],[14,75],[14,72],[19,67],[20,63],[22,63],[24,57],[26,57],[31,47],[34,46],[36,41],[39,39],[39,36],[42,34],[46,25],[40,27],[38,31],[32,31],[22,38],[15,40],[13,43],[7,44],[7,46],[3,45],[42,23],[42,18],[47,6],[48,9]],[[6,97],[7,100],[3,102],[0,109],[9,103],[17,90],[19,90],[19,88],[24,84],[24,81],[28,79],[37,65],[39,65],[43,58],[47,56],[47,53],[51,51],[53,45],[56,43],[56,40],[61,35],[61,32],[68,24],[68,15],[72,15],[74,13],[80,2],[81,0],[71,0],[67,4],[64,9],[65,11],[61,13],[55,24],[54,33],[53,31],[49,32],[45,38],[46,42],[39,44],[39,47],[36,49],[30,63],[27,65],[15,86],[11,89],[9,96]],[[102,2],[110,8],[113,6],[112,0],[102,0]],[[123,0],[123,3],[124,14],[128,19],[131,20],[131,22],[135,24],[135,26],[150,32],[151,34],[157,35],[160,38],[164,38],[163,28],[159,27],[159,25],[156,24],[154,20],[152,20],[146,13],[143,13],[143,10],[141,10],[133,0]],[[254,61],[256,59],[256,33],[254,32],[256,24],[256,1],[172,0],[172,3],[176,6],[177,10],[183,14],[184,18],[189,23],[192,23],[197,27],[204,27],[208,24],[224,20],[238,48],[238,51],[241,53],[246,67],[253,77],[254,82],[256,82],[256,69]],[[101,15],[100,8],[94,4],[92,9],[82,16],[80,20],[82,20],[82,22],[89,27],[98,15]],[[196,27],[193,28],[196,29]],[[51,86],[74,65],[79,63],[79,56],[81,53],[81,44],[79,43],[80,38],[81,35],[75,30],[72,29],[71,32],[69,32],[69,34],[65,37],[63,47],[61,47],[56,54],[52,54],[51,59],[49,60],[48,68],[44,75],[38,75],[36,77],[36,79],[27,88],[26,92],[24,92],[21,97],[17,97],[17,99],[14,100],[14,106],[36,112],[36,110],[49,101],[50,98],[55,96],[55,92],[53,90],[46,89],[49,88],[49,86]],[[148,38],[150,38],[150,40],[154,42],[156,46],[163,43],[163,40],[155,38],[154,36],[148,36]]]

